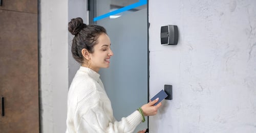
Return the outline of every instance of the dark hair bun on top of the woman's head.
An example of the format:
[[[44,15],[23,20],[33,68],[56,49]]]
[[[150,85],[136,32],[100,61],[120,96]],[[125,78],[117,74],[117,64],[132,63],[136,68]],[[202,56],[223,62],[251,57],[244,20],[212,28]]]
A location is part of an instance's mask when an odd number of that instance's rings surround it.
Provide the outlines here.
[[[83,28],[86,28],[86,24],[83,23],[82,18],[77,17],[77,18],[73,18],[71,19],[71,21],[69,22],[69,32],[72,35],[77,35]]]

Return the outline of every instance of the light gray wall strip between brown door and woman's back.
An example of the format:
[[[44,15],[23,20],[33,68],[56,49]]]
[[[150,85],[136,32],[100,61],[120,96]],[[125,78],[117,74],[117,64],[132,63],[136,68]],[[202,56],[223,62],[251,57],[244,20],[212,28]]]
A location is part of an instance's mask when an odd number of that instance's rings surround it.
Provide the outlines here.
[[[67,95],[78,64],[70,55],[71,18],[87,22],[86,0],[39,1],[39,91],[41,132],[65,132]]]

